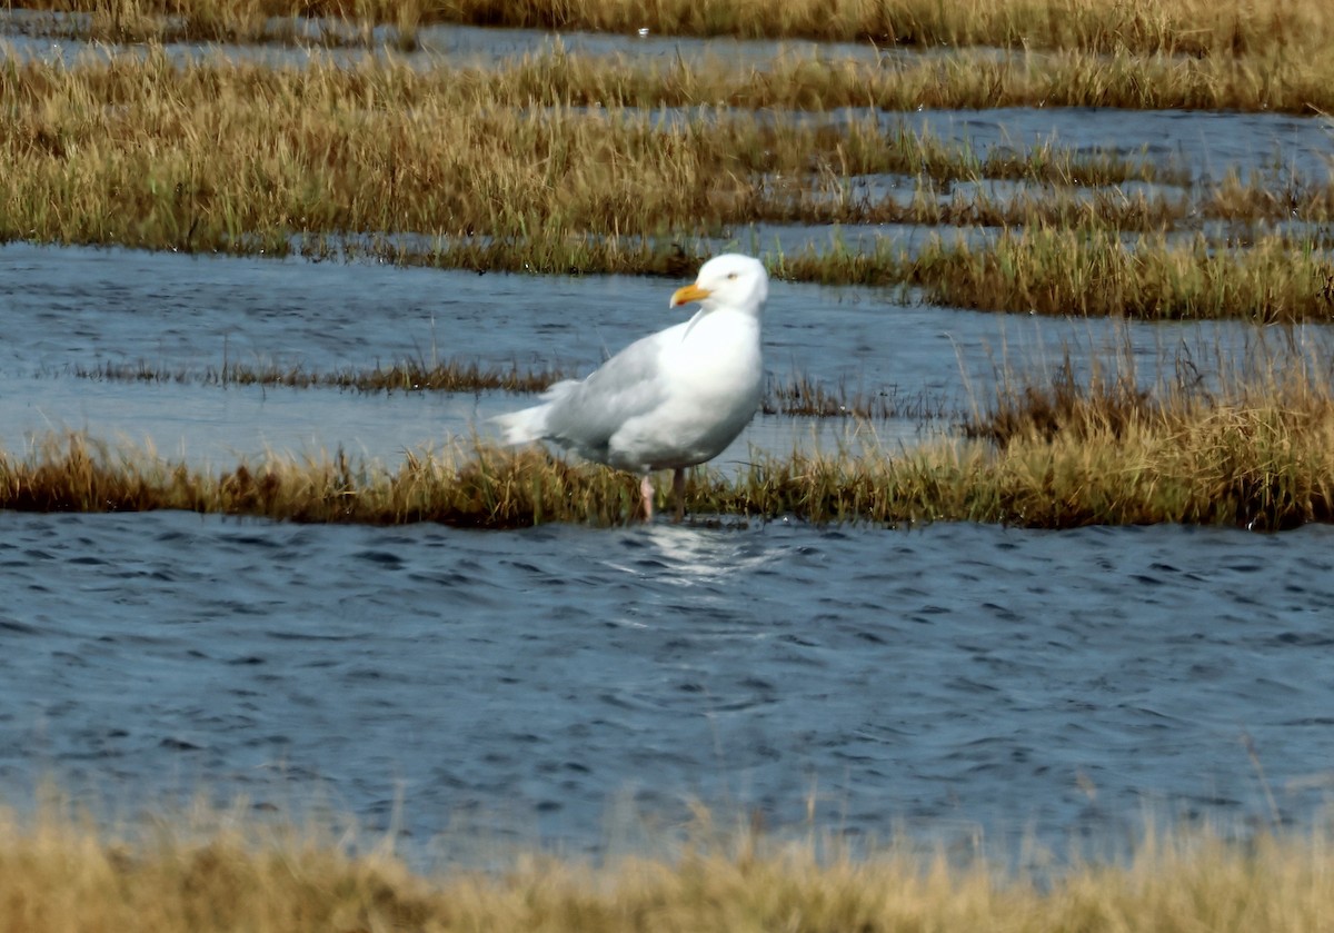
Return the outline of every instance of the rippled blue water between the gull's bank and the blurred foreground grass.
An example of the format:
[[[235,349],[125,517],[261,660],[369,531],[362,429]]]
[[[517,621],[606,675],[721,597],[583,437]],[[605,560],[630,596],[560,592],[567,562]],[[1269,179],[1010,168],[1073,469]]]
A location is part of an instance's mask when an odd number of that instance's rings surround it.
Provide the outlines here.
[[[5,525],[11,789],[400,801],[426,856],[651,844],[690,800],[1065,853],[1305,824],[1334,782],[1326,527]]]

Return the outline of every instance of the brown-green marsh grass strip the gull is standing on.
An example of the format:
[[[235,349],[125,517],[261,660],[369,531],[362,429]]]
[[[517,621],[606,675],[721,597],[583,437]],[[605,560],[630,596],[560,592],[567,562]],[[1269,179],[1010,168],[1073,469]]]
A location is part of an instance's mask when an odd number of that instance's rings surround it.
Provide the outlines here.
[[[1206,378],[1194,363],[1183,366],[1151,391],[1127,368],[1083,379],[1069,366],[1050,379],[1015,376],[991,400],[976,395],[962,436],[903,450],[876,444],[867,428],[856,450],[756,454],[728,474],[696,469],[687,509],[706,522],[794,517],[1042,529],[1174,522],[1274,531],[1334,521],[1329,354],[1293,339],[1215,368]],[[83,435],[0,458],[0,507],[37,511],[607,526],[631,521],[636,495],[634,477],[540,447],[483,440],[410,452],[392,469],[338,452],[209,473]]]

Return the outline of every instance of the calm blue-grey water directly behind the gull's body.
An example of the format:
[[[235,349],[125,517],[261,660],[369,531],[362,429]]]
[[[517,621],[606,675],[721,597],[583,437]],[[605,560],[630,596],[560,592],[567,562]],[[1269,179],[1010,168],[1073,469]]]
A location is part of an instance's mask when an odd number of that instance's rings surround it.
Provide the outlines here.
[[[227,362],[307,371],[404,360],[558,364],[591,371],[638,336],[680,319],[678,283],[630,276],[539,278],[370,264],[0,247],[0,444],[68,430],[231,466],[267,451],[339,447],[386,463],[451,438],[492,436],[492,415],[532,396],[124,383],[80,368],[144,363],[201,375]],[[770,375],[806,375],[850,395],[922,399],[967,411],[996,374],[1050,372],[1066,350],[1083,368],[1129,358],[1146,382],[1175,354],[1242,352],[1262,331],[1234,322],[1123,324],[1007,316],[904,304],[891,291],[776,283],[766,310]],[[1301,339],[1323,340],[1307,328]],[[1166,360],[1163,363],[1162,360]],[[1207,371],[1207,364],[1206,364]],[[1041,376],[1034,376],[1041,378]],[[948,420],[948,419],[947,419]],[[944,424],[948,427],[948,424]],[[844,442],[863,426],[758,418],[720,458]],[[918,438],[914,419],[874,426],[883,443]]]

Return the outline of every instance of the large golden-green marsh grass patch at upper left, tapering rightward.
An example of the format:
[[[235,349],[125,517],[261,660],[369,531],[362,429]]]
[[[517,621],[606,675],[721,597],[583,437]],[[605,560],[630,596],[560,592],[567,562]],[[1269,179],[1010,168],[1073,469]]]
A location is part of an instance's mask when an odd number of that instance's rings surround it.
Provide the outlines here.
[[[1042,141],[974,152],[871,117],[500,107],[450,72],[145,56],[0,69],[0,236],[281,251],[292,235],[660,235],[792,216],[766,179],[1179,180]],[[467,182],[464,182],[464,179]],[[800,219],[874,219],[819,208]]]

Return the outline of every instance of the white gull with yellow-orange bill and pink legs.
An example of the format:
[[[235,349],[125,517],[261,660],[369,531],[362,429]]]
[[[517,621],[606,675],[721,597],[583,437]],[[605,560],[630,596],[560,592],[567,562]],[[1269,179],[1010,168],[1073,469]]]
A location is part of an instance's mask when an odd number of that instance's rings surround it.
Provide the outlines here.
[[[672,470],[679,522],[686,467],[723,452],[759,408],[759,326],[767,296],[768,275],[758,259],[710,259],[668,304],[698,302],[690,320],[635,340],[586,379],[555,383],[542,404],[500,415],[495,420],[506,443],[551,440],[642,477],[646,521],[654,517],[651,474]]]

